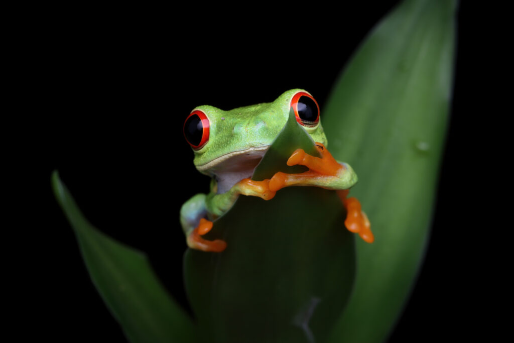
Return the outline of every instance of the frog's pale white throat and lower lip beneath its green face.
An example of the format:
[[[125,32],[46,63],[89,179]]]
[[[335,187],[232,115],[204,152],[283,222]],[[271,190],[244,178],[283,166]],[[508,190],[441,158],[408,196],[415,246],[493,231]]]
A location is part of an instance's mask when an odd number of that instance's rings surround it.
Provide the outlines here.
[[[217,193],[222,194],[242,179],[251,177],[268,148],[269,145],[233,151],[196,168],[214,176],[218,185]]]

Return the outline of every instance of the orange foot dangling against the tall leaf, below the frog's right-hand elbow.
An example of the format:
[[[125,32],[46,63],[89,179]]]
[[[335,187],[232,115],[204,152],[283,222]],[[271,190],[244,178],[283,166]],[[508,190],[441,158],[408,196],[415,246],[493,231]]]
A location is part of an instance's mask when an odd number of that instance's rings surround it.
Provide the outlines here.
[[[339,195],[347,212],[344,225],[348,231],[358,233],[364,242],[373,243],[375,237],[373,236],[373,232],[371,232],[371,224],[368,216],[362,211],[360,202],[356,197],[346,198],[348,192],[347,189],[337,191],[337,195]]]

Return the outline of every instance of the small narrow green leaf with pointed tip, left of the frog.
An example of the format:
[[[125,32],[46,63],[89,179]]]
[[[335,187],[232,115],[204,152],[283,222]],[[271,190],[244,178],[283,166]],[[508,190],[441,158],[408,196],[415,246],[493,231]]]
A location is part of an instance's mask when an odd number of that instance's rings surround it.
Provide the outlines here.
[[[57,171],[52,187],[75,230],[91,279],[127,338],[134,343],[193,341],[192,322],[164,290],[146,257],[93,227]]]

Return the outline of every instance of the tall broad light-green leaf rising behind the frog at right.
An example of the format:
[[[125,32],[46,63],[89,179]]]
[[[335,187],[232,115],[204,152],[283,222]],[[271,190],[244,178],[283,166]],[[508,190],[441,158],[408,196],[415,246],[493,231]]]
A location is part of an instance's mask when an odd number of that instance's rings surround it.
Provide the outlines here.
[[[357,243],[355,292],[333,342],[379,342],[423,259],[451,98],[454,11],[405,1],[362,44],[322,118],[328,149],[359,176],[352,189],[375,243]]]

